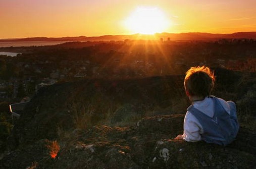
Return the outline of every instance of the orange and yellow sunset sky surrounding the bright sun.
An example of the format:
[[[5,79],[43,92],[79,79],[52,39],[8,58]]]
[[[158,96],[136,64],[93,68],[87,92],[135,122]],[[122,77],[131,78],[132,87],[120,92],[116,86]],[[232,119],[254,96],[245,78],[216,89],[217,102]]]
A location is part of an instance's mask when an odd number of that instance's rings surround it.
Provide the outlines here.
[[[133,34],[138,8],[159,9],[168,33],[256,31],[256,0],[0,0],[0,39]]]

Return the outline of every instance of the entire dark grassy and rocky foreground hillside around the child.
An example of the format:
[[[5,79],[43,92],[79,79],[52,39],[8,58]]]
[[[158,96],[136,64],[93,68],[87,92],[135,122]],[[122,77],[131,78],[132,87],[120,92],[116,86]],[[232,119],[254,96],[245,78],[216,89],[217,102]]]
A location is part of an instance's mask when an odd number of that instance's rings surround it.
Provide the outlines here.
[[[227,147],[189,143],[183,75],[85,79],[41,88],[8,139],[0,168],[252,168],[256,78],[216,69],[213,94],[238,105],[241,129]]]

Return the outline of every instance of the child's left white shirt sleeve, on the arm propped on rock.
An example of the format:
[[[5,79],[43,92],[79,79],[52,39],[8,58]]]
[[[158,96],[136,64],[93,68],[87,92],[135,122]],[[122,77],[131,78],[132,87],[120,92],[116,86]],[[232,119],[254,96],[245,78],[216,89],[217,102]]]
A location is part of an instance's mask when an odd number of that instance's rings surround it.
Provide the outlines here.
[[[183,139],[189,142],[196,142],[201,140],[202,127],[198,120],[187,111],[184,119]]]

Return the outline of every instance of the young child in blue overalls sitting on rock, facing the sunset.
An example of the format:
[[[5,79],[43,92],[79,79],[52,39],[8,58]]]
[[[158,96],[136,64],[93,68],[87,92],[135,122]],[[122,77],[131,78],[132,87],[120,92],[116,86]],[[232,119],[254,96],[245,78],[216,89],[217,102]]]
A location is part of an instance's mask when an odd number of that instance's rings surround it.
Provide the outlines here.
[[[227,145],[238,132],[236,104],[211,96],[214,73],[208,67],[190,68],[184,80],[186,94],[191,101],[184,119],[184,133],[175,139]]]

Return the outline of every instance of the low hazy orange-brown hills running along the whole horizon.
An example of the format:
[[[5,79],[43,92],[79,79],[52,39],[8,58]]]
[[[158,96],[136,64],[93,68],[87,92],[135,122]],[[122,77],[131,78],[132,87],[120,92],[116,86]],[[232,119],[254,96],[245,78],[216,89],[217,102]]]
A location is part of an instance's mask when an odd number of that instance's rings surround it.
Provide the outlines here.
[[[233,39],[233,38],[251,38],[256,39],[256,32],[236,32],[231,34],[213,34],[201,32],[189,33],[156,33],[155,35],[104,35],[104,36],[78,36],[78,37],[30,37],[30,38],[14,38],[14,39],[0,39],[0,42],[20,42],[20,41],[119,41],[119,40],[158,40],[163,38],[166,40],[217,40],[217,39]]]

